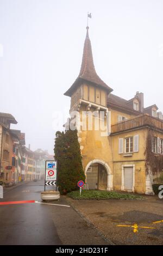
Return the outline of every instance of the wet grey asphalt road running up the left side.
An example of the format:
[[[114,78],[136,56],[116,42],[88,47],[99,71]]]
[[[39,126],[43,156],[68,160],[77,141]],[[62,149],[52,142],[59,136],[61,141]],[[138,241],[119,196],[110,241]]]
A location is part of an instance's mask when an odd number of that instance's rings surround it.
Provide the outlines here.
[[[37,200],[43,182],[5,190],[0,202]],[[68,205],[65,197],[55,204]],[[45,204],[0,205],[0,245],[107,245],[71,207]]]

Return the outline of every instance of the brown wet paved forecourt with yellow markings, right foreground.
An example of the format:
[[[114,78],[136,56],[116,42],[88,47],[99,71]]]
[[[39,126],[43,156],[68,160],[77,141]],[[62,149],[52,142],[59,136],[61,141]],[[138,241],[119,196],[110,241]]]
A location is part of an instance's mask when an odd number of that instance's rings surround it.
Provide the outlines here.
[[[144,200],[73,200],[67,197],[67,201],[116,245],[163,245],[163,200],[158,197],[145,196]],[[162,222],[153,224],[156,221]],[[138,225],[136,233],[130,227],[134,224]]]

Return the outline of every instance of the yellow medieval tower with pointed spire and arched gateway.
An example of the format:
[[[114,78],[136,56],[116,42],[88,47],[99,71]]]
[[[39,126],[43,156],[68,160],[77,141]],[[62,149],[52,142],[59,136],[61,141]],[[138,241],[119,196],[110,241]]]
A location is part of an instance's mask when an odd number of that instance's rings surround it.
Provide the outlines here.
[[[93,113],[92,129],[89,129],[86,121],[85,129],[78,131],[80,150],[83,157],[83,168],[86,174],[89,188],[112,190],[112,153],[110,138],[102,136],[102,130],[95,129],[95,113],[108,113],[107,99],[112,89],[107,86],[97,75],[93,63],[89,27],[86,27],[82,66],[79,75],[72,86],[65,93],[71,97],[72,111],[80,113],[80,121],[88,119],[88,114]],[[96,121],[99,121],[96,117]],[[104,124],[106,123],[104,118]],[[84,128],[84,127],[83,127]]]

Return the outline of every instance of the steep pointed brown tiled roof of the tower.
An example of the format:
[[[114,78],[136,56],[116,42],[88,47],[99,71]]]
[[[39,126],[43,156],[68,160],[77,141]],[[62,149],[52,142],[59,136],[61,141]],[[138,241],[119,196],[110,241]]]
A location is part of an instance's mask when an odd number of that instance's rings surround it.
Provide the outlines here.
[[[82,58],[80,73],[76,81],[64,94],[66,96],[71,96],[74,89],[79,85],[80,81],[82,80],[93,83],[97,87],[102,87],[103,89],[107,90],[108,93],[112,92],[112,89],[109,86],[107,86],[107,84],[105,84],[96,73],[95,65],[93,63],[91,41],[89,38],[89,27],[86,27],[86,30],[87,31],[86,31],[86,38],[84,42],[83,58]]]

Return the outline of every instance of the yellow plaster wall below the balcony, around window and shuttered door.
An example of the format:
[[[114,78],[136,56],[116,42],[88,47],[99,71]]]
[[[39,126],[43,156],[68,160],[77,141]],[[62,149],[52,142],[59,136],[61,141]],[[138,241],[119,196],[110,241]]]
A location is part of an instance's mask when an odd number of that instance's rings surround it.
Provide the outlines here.
[[[132,156],[118,154],[119,138],[126,138],[139,135],[139,152],[132,153]],[[135,192],[146,192],[146,168],[145,168],[145,149],[146,149],[147,129],[135,130],[111,136],[112,159],[114,166],[113,186],[115,190],[121,190],[122,184],[122,165],[135,164]],[[124,147],[124,143],[123,143]]]

